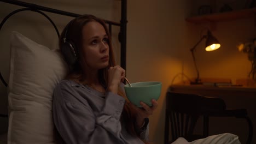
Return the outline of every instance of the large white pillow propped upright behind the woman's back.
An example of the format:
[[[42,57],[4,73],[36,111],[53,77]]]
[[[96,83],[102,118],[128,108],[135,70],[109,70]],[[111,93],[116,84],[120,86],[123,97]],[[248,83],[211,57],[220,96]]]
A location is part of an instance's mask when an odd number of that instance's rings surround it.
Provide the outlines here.
[[[52,97],[66,73],[58,50],[11,33],[8,143],[56,143]]]

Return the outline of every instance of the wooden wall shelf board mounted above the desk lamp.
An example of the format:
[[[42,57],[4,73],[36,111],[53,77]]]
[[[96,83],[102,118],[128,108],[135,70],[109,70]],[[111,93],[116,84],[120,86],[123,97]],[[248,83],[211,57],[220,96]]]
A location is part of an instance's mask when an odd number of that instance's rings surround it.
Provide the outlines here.
[[[215,25],[214,23],[220,22],[220,21],[246,19],[249,17],[256,17],[256,8],[229,11],[229,12],[225,12],[225,13],[216,13],[216,14],[188,17],[185,20],[188,22],[196,23],[196,24],[212,23],[213,25]]]

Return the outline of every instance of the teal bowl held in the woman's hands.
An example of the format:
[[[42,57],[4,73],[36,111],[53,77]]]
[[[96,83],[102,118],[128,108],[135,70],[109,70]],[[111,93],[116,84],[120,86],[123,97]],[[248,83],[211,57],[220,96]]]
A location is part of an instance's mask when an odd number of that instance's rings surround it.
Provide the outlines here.
[[[142,107],[139,102],[143,101],[149,106],[152,106],[151,100],[158,100],[161,94],[162,83],[161,82],[136,82],[125,85],[125,94],[127,99],[131,101],[132,104]]]

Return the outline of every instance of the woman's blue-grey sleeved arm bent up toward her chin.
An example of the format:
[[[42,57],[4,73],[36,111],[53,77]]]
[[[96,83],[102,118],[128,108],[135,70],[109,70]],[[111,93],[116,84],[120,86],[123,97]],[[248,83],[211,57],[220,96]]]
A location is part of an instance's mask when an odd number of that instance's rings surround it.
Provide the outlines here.
[[[89,104],[79,103],[71,87],[58,85],[54,92],[56,129],[66,143],[119,143],[119,121],[125,99],[108,92],[102,112],[95,115]]]

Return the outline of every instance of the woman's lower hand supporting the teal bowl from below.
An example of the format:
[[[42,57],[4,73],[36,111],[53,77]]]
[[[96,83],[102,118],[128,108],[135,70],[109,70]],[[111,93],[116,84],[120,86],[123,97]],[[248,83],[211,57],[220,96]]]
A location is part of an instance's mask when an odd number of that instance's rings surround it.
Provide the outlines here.
[[[156,107],[158,107],[158,102],[154,99],[151,100],[153,106],[149,107],[147,104],[143,103],[141,101],[141,106],[142,108],[139,108],[133,104],[132,107],[133,109],[136,110],[137,115],[136,115],[136,123],[138,125],[138,127],[142,127],[143,123],[144,123],[144,118],[148,118],[150,115],[153,114],[153,112],[155,111]]]

